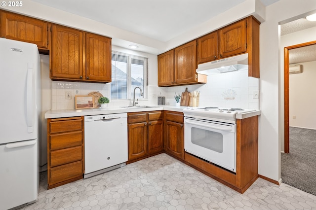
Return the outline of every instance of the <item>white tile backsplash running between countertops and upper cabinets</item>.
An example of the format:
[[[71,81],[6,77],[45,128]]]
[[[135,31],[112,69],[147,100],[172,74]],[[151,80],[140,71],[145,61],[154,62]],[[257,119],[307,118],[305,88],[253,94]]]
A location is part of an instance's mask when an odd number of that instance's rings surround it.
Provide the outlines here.
[[[157,105],[158,96],[166,97],[166,105],[175,105],[174,95],[188,91],[199,91],[199,106],[241,107],[259,110],[259,100],[253,99],[253,92],[258,91],[260,79],[248,77],[247,70],[233,71],[207,76],[206,84],[148,87],[148,100],[139,100],[139,105]],[[75,95],[88,95],[99,91],[110,98],[111,84],[51,81],[51,109],[74,109]],[[71,99],[66,99],[66,92]],[[110,100],[109,106],[131,105],[131,100]]]

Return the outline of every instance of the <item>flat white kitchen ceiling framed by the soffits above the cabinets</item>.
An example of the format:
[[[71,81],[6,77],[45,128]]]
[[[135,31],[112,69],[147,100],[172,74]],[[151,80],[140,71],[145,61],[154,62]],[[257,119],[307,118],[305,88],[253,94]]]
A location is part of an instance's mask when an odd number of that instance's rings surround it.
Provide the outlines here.
[[[33,0],[166,42],[246,0]],[[261,0],[264,5],[278,0]]]

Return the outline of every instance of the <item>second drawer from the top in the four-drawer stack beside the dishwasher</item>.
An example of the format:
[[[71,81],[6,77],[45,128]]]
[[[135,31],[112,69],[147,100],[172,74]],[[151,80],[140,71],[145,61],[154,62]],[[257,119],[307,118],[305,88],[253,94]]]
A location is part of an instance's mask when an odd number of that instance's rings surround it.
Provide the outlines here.
[[[49,149],[57,150],[82,145],[82,131],[74,131],[49,136]]]

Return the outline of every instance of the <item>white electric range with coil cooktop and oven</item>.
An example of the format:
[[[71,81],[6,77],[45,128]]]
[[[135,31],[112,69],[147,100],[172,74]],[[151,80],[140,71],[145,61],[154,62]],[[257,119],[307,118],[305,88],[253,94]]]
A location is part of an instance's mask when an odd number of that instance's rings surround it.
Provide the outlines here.
[[[187,107],[184,113],[185,151],[236,173],[236,114],[242,108]]]

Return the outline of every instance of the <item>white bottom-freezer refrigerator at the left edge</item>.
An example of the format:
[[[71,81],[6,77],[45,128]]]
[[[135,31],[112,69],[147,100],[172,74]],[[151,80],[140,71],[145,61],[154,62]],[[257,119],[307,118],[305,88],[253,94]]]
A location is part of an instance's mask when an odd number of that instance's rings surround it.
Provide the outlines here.
[[[39,62],[37,45],[0,38],[0,210],[38,198]]]

